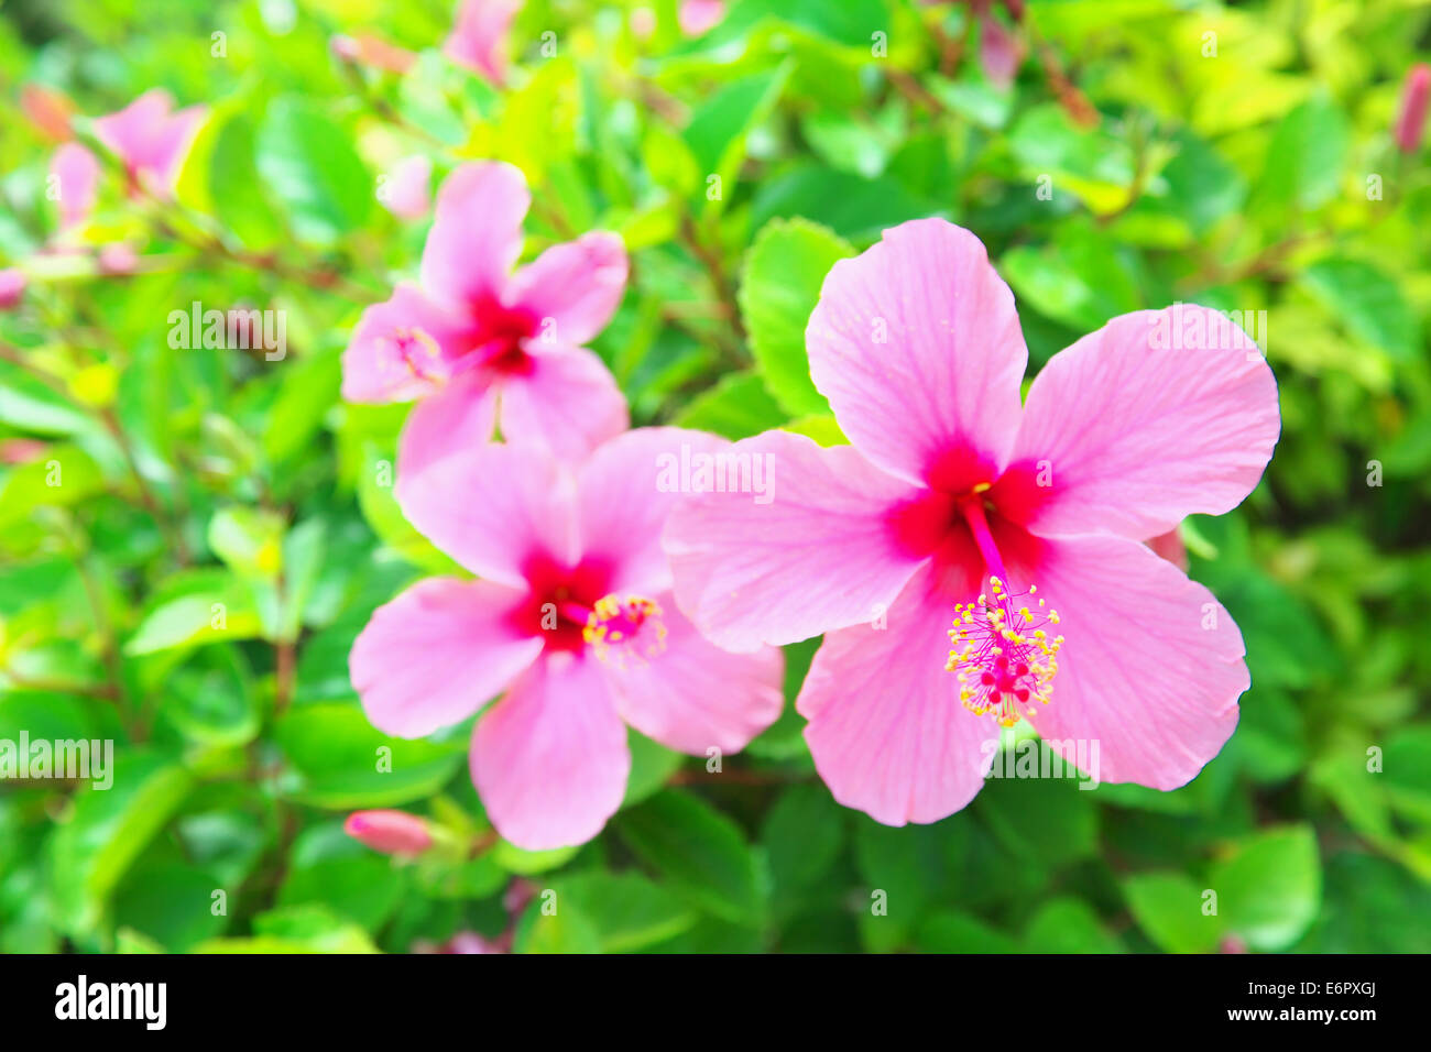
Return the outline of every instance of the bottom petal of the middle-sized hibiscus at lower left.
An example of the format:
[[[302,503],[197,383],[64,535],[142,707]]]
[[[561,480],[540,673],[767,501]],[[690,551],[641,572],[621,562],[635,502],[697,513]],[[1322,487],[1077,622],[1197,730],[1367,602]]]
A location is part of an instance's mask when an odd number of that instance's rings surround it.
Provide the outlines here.
[[[590,658],[538,661],[472,736],[472,781],[487,816],[529,852],[600,833],[621,806],[630,773],[625,724]]]

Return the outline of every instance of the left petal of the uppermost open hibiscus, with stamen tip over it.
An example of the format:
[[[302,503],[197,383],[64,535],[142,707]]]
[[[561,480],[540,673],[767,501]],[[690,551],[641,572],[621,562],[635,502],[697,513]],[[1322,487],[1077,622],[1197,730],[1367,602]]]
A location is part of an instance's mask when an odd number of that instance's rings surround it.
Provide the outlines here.
[[[362,312],[343,351],[343,398],[406,402],[436,391],[462,354],[462,319],[416,285]],[[402,342],[408,341],[404,355]]]

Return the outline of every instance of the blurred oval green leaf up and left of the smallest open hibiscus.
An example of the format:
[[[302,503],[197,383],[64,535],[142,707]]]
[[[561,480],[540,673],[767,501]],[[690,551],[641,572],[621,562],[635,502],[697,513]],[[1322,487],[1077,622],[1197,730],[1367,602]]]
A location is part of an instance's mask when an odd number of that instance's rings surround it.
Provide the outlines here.
[[[335,242],[372,210],[375,182],[351,137],[308,99],[269,103],[258,133],[258,170],[302,240]]]

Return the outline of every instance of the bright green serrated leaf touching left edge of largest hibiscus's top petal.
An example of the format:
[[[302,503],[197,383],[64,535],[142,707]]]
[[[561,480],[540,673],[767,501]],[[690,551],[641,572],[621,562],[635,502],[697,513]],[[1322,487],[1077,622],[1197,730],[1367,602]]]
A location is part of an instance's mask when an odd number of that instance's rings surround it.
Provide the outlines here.
[[[830,268],[854,255],[843,238],[807,219],[770,222],[746,253],[740,312],[766,386],[791,417],[830,412],[810,379],[804,331]]]

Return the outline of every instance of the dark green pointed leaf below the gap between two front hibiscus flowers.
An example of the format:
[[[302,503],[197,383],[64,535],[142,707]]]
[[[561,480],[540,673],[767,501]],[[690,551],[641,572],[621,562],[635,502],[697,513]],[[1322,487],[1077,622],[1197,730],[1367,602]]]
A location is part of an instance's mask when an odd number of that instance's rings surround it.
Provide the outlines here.
[[[698,906],[754,925],[764,906],[756,859],[740,827],[697,797],[667,790],[617,817],[641,859]]]

